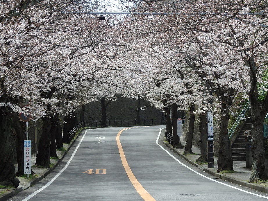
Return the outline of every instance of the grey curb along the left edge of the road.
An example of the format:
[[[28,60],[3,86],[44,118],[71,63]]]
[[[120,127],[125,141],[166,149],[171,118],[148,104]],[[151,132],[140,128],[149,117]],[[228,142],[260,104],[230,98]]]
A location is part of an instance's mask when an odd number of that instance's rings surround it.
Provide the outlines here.
[[[83,130],[81,130],[81,132],[78,134],[78,136],[82,133],[82,131]],[[77,137],[76,137],[76,139],[77,139]],[[67,148],[67,150],[63,152],[62,157],[57,160],[57,162],[53,165],[53,167],[49,168],[40,177],[37,177],[37,178],[33,179],[31,182],[27,182],[26,183],[26,186],[24,186],[23,188],[22,187],[18,187],[17,189],[12,189],[11,192],[3,193],[2,195],[0,195],[0,201],[5,201],[5,200],[11,198],[12,196],[14,196],[16,193],[19,193],[19,192],[22,192],[23,190],[28,189],[30,186],[36,184],[37,182],[39,182],[40,180],[42,180],[44,177],[46,177],[49,173],[51,173],[58,166],[58,164],[60,163],[60,161],[62,161],[62,159],[65,157],[66,153],[70,150],[71,146],[74,144],[74,142],[76,141],[76,139],[73,140],[72,143],[69,144],[69,147]]]

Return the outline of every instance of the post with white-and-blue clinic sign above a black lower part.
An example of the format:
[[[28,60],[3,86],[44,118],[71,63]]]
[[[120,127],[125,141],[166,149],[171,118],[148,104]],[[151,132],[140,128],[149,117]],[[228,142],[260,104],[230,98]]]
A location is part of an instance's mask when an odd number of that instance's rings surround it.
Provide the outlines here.
[[[208,168],[214,168],[213,113],[207,113],[208,122]]]

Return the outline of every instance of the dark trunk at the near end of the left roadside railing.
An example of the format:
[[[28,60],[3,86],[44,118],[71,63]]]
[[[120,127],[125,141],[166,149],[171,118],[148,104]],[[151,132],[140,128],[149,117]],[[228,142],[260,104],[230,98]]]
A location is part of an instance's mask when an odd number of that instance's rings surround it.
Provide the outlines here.
[[[64,116],[64,124],[63,124],[63,136],[62,142],[69,144],[71,139],[69,138],[69,132],[77,125],[77,116],[76,112],[72,112],[71,116]]]

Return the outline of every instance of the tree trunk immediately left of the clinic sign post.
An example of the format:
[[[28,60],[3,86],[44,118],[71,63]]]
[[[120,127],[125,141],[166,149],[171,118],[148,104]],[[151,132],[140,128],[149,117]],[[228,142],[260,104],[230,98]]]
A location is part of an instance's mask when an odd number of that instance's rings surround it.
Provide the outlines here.
[[[207,127],[207,116],[206,114],[200,114],[200,157],[196,159],[198,163],[206,163],[208,162],[208,127]]]

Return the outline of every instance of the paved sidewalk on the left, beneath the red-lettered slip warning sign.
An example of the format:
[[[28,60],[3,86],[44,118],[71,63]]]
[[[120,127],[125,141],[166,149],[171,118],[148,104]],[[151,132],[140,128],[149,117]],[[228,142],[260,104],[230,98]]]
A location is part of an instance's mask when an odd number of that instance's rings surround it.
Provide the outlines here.
[[[76,137],[77,138],[77,137]],[[35,176],[32,176],[32,178],[24,178],[24,177],[17,177],[19,179],[19,187],[17,189],[0,189],[0,201],[7,200],[11,198],[16,193],[19,193],[25,189],[28,189],[30,186],[36,184],[40,180],[42,180],[44,177],[46,177],[49,173],[51,173],[56,166],[59,164],[59,162],[63,159],[65,154],[68,152],[68,150],[71,148],[72,144],[75,140],[72,140],[70,144],[63,143],[63,147],[66,149],[66,151],[57,151],[57,155],[59,159],[53,160],[50,159],[51,168],[37,168],[32,167],[32,170],[35,172]],[[34,157],[34,154],[32,155],[32,166],[35,165],[36,157]],[[15,164],[16,172],[18,171],[18,164]]]

